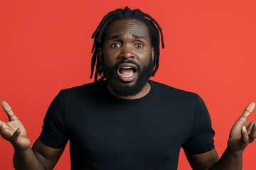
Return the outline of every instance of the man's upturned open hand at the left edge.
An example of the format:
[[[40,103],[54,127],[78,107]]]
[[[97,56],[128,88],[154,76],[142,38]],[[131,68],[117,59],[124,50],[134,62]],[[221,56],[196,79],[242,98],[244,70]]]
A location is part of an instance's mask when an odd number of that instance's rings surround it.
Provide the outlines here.
[[[4,108],[5,113],[9,118],[9,122],[3,122],[0,120],[0,135],[11,142],[15,149],[25,150],[30,147],[30,140],[28,139],[26,129],[17,116],[12,111],[11,106],[9,106],[6,101],[1,103]]]

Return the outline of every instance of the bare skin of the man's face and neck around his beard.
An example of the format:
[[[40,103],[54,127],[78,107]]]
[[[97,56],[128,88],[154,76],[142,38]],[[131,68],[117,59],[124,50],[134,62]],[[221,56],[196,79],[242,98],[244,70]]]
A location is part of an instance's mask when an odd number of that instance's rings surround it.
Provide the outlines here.
[[[107,67],[113,67],[119,60],[132,60],[140,67],[145,67],[149,64],[150,56],[154,60],[154,48],[151,47],[149,34],[144,23],[137,20],[123,20],[116,21],[109,26],[105,35],[104,47],[100,49],[100,60],[104,60]],[[134,64],[122,66],[137,69]],[[130,78],[119,74],[119,82],[125,86],[133,86],[137,79],[137,72]],[[120,96],[114,93],[110,86],[108,89],[119,98],[135,99],[145,96],[150,90],[150,85],[147,83],[136,96]]]

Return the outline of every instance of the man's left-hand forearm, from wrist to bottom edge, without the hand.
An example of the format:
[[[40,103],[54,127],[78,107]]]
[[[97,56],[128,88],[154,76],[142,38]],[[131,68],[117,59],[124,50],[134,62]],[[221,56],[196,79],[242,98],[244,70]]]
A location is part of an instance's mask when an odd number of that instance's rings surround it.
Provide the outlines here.
[[[29,147],[23,151],[15,151],[14,153],[14,167],[15,169],[22,170],[43,170],[43,165],[34,154],[33,150]]]

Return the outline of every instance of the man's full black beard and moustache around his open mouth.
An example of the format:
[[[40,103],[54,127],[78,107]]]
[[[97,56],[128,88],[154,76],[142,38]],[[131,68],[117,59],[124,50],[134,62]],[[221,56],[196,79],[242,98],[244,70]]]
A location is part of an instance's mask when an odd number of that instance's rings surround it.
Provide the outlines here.
[[[132,63],[137,66],[137,80],[134,85],[129,85],[129,82],[120,81],[117,74],[117,68],[119,64],[123,63]],[[107,67],[105,62],[102,62],[103,74],[107,79],[107,84],[112,88],[112,90],[120,96],[135,96],[139,94],[140,91],[144,88],[146,83],[149,81],[149,78],[154,75],[154,63],[150,57],[149,64],[145,67],[140,67],[134,61],[130,60],[121,60],[114,64],[113,67]]]

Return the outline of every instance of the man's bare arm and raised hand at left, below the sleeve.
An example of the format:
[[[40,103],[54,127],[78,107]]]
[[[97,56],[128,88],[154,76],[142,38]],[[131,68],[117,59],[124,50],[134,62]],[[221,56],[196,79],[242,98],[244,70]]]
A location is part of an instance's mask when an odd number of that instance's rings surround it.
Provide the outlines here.
[[[8,103],[1,103],[8,115],[9,122],[0,121],[0,134],[14,146],[14,166],[16,169],[53,169],[58,162],[63,149],[46,147],[38,139],[33,147],[27,137],[26,129],[18,120]]]

